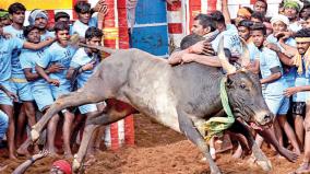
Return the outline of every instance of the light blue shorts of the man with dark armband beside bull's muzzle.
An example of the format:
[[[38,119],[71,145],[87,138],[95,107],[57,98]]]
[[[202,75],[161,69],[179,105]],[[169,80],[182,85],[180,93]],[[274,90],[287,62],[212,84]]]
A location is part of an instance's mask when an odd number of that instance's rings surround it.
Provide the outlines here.
[[[264,96],[269,109],[274,115],[286,115],[289,108],[289,98],[284,95]]]

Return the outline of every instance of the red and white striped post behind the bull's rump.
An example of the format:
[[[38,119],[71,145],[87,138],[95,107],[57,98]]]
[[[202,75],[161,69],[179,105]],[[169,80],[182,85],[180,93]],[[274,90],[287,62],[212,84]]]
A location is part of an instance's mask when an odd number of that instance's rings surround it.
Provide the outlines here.
[[[104,45],[110,48],[129,48],[126,0],[107,0],[108,13],[104,21]],[[120,106],[121,107],[121,106]],[[112,150],[123,143],[134,144],[133,116],[106,128],[105,144]]]

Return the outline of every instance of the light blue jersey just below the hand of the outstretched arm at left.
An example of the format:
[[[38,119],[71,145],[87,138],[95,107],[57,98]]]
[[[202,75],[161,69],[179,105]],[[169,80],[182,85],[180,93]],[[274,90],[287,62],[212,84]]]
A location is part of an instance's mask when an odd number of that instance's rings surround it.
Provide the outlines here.
[[[20,56],[20,61],[22,69],[29,68],[32,69],[32,73],[36,73],[36,63],[43,59],[44,57],[44,49],[40,50],[29,50],[29,49],[22,49],[22,54]],[[47,81],[43,78],[37,79],[36,81],[29,82],[32,86],[35,85],[48,85]]]

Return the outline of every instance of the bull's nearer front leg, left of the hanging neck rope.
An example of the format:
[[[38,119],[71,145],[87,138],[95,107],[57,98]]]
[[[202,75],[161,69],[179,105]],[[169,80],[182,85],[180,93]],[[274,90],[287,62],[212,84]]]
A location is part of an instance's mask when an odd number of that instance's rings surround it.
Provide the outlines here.
[[[202,135],[195,128],[193,120],[190,118],[190,115],[186,112],[178,109],[178,119],[180,125],[180,130],[187,136],[187,138],[198,146],[200,151],[205,155],[212,174],[220,174],[218,166],[215,164],[213,159],[211,158],[208,146],[205,142]]]

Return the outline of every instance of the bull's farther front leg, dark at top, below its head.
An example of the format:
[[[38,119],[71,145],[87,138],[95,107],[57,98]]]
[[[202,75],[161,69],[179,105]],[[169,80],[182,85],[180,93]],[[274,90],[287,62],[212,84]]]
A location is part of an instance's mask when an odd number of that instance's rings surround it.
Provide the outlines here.
[[[260,165],[264,171],[272,170],[271,161],[266,158],[264,152],[258,146],[250,130],[242,123],[240,123],[239,120],[236,120],[234,125],[229,128],[229,130],[233,132],[243,135],[249,142],[249,147],[251,147],[252,149],[252,153],[255,156],[255,160],[257,160],[255,162],[258,163],[258,165]]]

